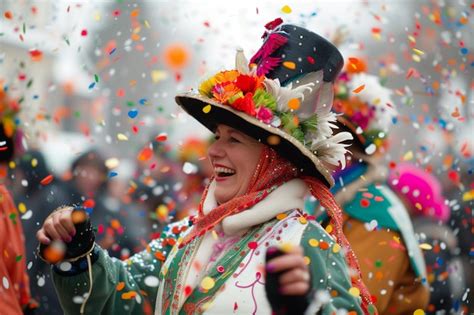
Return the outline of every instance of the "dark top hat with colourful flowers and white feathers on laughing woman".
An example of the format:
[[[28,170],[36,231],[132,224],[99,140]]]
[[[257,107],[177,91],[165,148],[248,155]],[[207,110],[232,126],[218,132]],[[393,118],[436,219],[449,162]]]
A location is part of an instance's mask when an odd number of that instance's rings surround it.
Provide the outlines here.
[[[262,47],[250,60],[238,50],[236,68],[204,81],[199,94],[176,102],[211,131],[218,124],[269,145],[303,175],[333,184],[330,167],[344,166],[350,133],[333,135],[333,82],[343,65],[337,48],[299,26],[268,23]]]

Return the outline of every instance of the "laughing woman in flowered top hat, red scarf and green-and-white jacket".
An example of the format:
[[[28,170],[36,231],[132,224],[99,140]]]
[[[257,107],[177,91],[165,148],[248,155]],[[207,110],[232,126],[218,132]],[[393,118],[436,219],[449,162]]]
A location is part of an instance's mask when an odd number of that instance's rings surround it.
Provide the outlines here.
[[[250,65],[239,51],[236,69],[206,80],[200,95],[176,97],[216,135],[208,150],[214,176],[195,217],[168,226],[126,262],[94,244],[81,209],[46,219],[37,234],[43,257],[68,240],[53,272],[66,313],[376,313],[329,192],[329,165],[344,161],[340,142],[350,139],[331,128],[342,56],[281,22],[266,25]],[[326,208],[330,228],[303,212],[308,193]]]

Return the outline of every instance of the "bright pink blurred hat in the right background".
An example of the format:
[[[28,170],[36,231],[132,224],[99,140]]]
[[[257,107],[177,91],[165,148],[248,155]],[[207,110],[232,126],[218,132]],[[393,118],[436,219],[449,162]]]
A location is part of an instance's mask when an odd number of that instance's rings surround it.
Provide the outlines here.
[[[413,164],[402,163],[390,172],[389,185],[418,215],[448,221],[451,210],[444,202],[441,183],[432,174]]]

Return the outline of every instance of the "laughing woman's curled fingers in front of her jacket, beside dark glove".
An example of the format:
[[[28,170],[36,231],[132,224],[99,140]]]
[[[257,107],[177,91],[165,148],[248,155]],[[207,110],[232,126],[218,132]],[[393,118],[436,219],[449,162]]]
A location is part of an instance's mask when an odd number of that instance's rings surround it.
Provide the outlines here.
[[[281,295],[306,295],[311,288],[311,276],[304,260],[303,248],[292,246],[285,249],[283,249],[283,255],[272,258],[267,262],[267,273],[279,274],[278,284]],[[267,255],[271,255],[272,250],[278,251],[276,248],[269,248]]]

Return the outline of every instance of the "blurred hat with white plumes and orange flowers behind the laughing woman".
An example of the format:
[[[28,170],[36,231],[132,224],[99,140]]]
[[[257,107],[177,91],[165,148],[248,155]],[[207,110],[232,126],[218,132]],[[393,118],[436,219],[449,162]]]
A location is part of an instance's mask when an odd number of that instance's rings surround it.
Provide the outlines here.
[[[392,91],[377,76],[365,72],[365,62],[349,58],[335,84],[334,110],[338,124],[354,136],[354,142],[368,155],[386,145],[388,129],[397,115]]]

